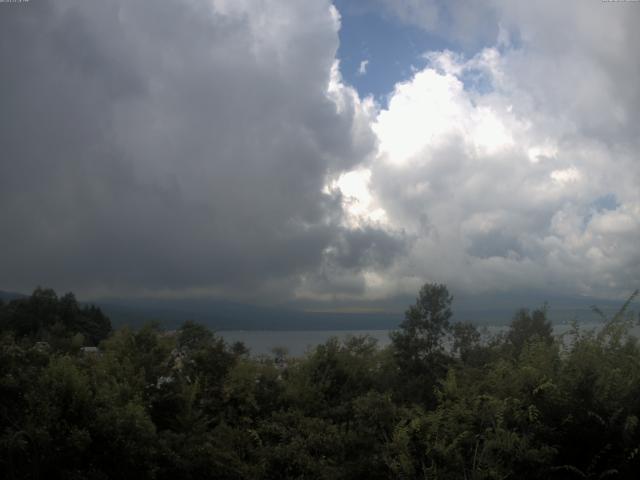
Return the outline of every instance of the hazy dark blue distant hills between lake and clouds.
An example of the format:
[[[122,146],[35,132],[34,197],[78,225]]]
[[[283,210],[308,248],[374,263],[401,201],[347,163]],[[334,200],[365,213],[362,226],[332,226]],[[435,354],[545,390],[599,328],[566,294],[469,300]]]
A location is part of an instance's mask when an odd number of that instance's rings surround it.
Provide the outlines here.
[[[26,295],[0,291],[4,301],[23,298]],[[601,300],[586,297],[547,298],[549,319],[553,323],[598,322],[591,305],[607,314],[614,313],[623,301]],[[213,330],[390,330],[403,320],[404,311],[413,303],[404,298],[387,306],[385,313],[308,311],[294,307],[272,307],[212,299],[141,299],[111,298],[97,300],[98,305],[111,319],[114,327],[141,326],[150,321],[159,322],[164,328],[173,329],[186,320],[202,323]],[[502,294],[455,297],[454,320],[471,321],[477,325],[506,325],[514,312],[521,307],[537,308],[545,298],[532,295]],[[317,307],[317,306],[316,306]],[[381,305],[376,305],[381,307]],[[316,309],[317,310],[317,309]],[[381,309],[382,310],[382,309]]]

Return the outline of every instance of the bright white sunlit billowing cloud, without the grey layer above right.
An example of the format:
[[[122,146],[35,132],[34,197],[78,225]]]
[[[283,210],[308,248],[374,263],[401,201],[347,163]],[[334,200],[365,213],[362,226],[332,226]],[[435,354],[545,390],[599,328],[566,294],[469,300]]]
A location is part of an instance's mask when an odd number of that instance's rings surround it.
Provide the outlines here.
[[[416,278],[471,292],[553,286],[591,295],[640,281],[623,267],[640,263],[636,139],[610,146],[578,131],[584,119],[554,117],[557,105],[520,86],[521,53],[430,52],[373,120],[379,151],[359,205],[376,204],[414,238],[385,277],[389,292]],[[473,75],[484,88],[467,83]],[[624,168],[631,177],[611,175]],[[611,192],[623,204],[594,210]]]

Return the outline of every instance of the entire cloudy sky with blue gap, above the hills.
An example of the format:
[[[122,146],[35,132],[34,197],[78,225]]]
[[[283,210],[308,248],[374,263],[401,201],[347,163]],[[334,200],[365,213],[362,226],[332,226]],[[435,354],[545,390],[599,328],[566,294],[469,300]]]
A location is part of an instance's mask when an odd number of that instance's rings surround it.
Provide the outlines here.
[[[640,287],[640,3],[0,3],[0,289]]]

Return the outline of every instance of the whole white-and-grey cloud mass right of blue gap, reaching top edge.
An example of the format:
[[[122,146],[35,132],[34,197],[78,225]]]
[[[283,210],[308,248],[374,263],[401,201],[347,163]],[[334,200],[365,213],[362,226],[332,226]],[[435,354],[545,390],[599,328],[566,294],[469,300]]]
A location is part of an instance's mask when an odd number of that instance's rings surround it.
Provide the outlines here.
[[[396,85],[373,122],[368,192],[415,236],[389,292],[414,279],[472,293],[637,288],[640,10],[609,7],[494,2],[493,44],[428,52]]]

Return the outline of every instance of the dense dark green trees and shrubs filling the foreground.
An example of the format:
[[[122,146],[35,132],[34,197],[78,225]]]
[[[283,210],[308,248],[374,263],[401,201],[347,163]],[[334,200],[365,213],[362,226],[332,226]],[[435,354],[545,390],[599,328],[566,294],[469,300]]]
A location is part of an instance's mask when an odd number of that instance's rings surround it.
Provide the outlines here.
[[[629,302],[554,338],[546,310],[483,338],[425,285],[388,348],[253,357],[187,322],[111,331],[38,289],[0,302],[0,471],[47,479],[636,478]],[[96,351],[91,346],[99,345]]]

